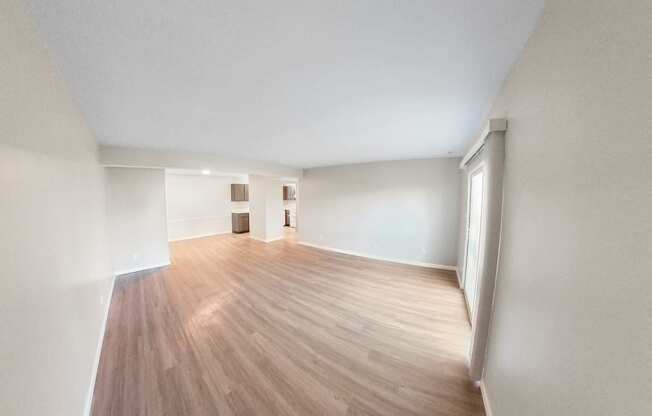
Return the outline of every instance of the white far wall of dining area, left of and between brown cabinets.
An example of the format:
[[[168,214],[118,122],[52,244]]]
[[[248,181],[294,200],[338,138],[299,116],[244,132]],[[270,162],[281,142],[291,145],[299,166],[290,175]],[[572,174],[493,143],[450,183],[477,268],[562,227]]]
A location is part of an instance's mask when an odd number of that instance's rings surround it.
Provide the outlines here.
[[[240,177],[167,174],[168,238],[170,241],[231,232],[234,209],[248,202],[231,202],[231,184]]]

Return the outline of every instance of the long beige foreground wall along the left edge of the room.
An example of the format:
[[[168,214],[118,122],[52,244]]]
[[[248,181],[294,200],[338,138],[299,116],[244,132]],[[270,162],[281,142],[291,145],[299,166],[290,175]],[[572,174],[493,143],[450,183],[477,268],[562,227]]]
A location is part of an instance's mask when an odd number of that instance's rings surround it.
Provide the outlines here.
[[[0,414],[82,415],[112,285],[92,132],[23,2],[0,2]]]

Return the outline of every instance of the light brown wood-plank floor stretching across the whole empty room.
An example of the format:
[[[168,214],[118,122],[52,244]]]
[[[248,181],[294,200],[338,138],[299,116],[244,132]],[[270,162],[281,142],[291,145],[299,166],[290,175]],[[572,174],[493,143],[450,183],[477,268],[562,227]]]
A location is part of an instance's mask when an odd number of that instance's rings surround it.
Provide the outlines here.
[[[286,240],[116,282],[93,415],[484,415],[455,275]]]

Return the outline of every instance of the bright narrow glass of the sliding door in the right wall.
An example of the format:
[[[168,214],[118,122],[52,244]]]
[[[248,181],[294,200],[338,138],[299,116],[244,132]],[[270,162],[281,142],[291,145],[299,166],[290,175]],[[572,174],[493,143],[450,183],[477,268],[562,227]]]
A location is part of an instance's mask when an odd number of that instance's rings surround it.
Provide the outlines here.
[[[468,218],[466,232],[466,259],[464,261],[464,295],[471,322],[475,322],[476,293],[482,256],[482,223],[484,198],[484,169],[480,167],[470,174]]]

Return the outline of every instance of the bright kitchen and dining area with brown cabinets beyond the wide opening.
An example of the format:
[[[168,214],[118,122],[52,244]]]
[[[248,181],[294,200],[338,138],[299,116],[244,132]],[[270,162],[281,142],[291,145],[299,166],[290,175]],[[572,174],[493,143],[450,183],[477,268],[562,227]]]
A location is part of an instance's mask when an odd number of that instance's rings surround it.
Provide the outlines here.
[[[168,241],[238,234],[269,242],[296,229],[296,180],[167,169],[165,183]]]

